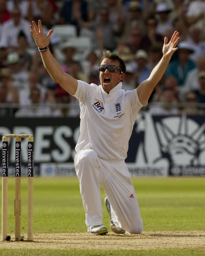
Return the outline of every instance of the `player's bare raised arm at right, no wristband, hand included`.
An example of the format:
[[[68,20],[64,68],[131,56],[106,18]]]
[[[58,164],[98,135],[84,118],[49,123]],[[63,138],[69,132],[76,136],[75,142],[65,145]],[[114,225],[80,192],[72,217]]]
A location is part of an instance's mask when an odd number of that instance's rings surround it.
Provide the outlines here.
[[[162,78],[164,72],[167,69],[169,61],[173,55],[173,53],[178,50],[176,45],[180,40],[179,32],[175,31],[172,35],[171,40],[168,43],[168,38],[164,37],[164,45],[162,48],[163,56],[159,63],[154,67],[148,79],[144,80],[141,84],[139,84],[137,88],[137,94],[139,97],[139,101],[145,105],[155,88],[156,84]],[[176,48],[175,48],[176,47]]]

